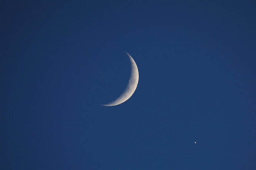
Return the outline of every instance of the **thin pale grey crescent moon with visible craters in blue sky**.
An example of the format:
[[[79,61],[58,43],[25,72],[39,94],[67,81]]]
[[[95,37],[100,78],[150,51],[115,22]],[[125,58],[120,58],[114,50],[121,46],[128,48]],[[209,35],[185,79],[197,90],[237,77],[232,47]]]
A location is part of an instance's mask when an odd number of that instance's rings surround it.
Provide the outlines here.
[[[126,52],[127,53],[127,52]],[[103,106],[115,106],[127,101],[137,88],[139,82],[139,71],[134,59],[127,53],[131,61],[131,76],[124,92],[114,101],[108,104],[102,104]]]

